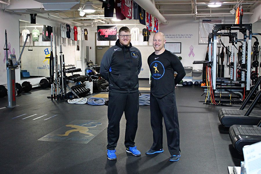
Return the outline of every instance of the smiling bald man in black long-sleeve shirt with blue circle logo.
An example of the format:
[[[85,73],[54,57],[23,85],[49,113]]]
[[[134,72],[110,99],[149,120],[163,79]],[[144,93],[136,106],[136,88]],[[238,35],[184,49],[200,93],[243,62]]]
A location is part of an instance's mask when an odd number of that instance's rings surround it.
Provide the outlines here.
[[[146,152],[151,155],[161,153],[162,149],[162,117],[166,126],[170,161],[180,158],[180,131],[175,98],[175,86],[186,75],[180,59],[172,52],[165,50],[165,35],[158,32],[153,37],[153,52],[148,57],[148,66],[151,71],[151,127],[153,144]],[[174,72],[177,76],[174,79]]]

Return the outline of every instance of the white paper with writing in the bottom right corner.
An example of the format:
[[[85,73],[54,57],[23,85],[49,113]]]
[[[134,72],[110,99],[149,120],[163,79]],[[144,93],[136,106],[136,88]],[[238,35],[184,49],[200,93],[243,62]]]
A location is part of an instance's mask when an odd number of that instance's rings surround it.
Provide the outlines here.
[[[261,174],[261,142],[243,147],[247,174]]]

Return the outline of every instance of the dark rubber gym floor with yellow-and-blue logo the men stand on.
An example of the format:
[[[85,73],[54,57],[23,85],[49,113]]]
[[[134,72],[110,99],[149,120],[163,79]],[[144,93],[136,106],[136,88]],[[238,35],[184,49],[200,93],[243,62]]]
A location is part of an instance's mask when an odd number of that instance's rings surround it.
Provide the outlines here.
[[[148,80],[140,80],[140,87],[149,87]],[[227,166],[240,166],[244,158],[218,120],[218,110],[225,107],[204,105],[203,90],[197,86],[178,86],[175,92],[181,148],[177,162],[169,161],[165,127],[164,152],[145,155],[153,141],[150,106],[139,108],[135,143],[142,155],[125,150],[123,115],[117,160],[108,160],[107,106],[51,101],[50,89],[21,93],[15,108],[2,108],[8,105],[7,96],[0,98],[0,173],[226,174]],[[79,125],[87,126],[70,131]]]

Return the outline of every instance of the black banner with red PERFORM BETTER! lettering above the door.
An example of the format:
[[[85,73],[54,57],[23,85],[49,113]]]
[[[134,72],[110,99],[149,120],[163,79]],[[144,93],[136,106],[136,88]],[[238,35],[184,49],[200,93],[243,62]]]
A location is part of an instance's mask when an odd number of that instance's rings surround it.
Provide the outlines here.
[[[116,41],[117,26],[97,26],[98,41]]]

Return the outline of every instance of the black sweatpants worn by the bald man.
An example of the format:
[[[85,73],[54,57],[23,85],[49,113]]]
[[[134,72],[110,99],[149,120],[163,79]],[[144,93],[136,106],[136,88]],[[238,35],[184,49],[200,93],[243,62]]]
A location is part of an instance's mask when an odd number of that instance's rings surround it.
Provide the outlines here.
[[[168,150],[171,155],[180,154],[180,130],[175,91],[162,98],[150,95],[151,127],[153,131],[152,150],[162,149],[162,117],[167,133]]]

